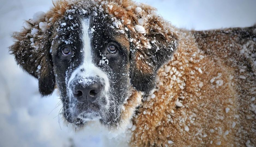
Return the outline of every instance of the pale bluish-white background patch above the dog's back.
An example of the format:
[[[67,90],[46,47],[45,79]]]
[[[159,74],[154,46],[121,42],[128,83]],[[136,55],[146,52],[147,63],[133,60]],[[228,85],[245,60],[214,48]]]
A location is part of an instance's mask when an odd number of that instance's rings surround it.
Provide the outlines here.
[[[138,0],[158,9],[177,27],[218,29],[256,23],[256,0]]]

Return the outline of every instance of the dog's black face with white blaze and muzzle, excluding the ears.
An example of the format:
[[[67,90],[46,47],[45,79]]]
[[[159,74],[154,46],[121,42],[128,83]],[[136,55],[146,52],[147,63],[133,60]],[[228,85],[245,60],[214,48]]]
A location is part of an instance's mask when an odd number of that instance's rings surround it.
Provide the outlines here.
[[[104,13],[66,18],[58,21],[52,43],[64,117],[71,123],[79,118],[116,124],[131,95],[130,41]]]

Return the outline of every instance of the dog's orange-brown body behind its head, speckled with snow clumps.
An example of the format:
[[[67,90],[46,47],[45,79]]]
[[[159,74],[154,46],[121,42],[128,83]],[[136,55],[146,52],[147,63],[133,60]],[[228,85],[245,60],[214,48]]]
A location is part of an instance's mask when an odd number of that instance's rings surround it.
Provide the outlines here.
[[[134,120],[137,146],[256,145],[256,26],[184,31]]]

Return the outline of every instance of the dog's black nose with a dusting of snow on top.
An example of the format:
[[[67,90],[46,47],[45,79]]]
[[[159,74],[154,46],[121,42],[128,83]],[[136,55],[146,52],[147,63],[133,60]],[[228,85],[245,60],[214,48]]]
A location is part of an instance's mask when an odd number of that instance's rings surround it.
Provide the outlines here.
[[[73,87],[77,101],[92,102],[101,91],[101,83],[93,78],[80,79]]]

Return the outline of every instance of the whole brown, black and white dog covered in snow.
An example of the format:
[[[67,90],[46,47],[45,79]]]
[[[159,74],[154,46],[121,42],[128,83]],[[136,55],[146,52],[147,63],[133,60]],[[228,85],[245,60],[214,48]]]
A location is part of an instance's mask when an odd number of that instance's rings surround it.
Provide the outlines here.
[[[178,29],[131,0],[59,0],[26,22],[10,52],[76,129],[122,130],[126,146],[256,146],[256,25]]]

